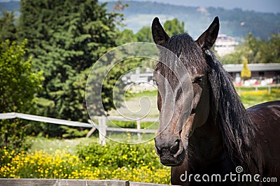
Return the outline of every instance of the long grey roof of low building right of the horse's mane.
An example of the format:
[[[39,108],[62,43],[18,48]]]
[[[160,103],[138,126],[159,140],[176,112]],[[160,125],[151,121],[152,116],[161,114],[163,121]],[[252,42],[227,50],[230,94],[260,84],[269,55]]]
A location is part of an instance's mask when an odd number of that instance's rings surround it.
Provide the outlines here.
[[[243,64],[225,64],[223,67],[228,72],[241,72],[243,69]],[[280,64],[248,64],[248,68],[250,71],[280,71]]]

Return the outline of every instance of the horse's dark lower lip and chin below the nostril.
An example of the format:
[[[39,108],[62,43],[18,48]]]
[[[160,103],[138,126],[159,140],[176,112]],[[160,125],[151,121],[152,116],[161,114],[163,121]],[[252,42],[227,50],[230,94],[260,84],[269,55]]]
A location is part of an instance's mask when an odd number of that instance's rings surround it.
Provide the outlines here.
[[[160,163],[165,166],[181,166],[183,160],[185,159],[185,150],[180,155],[174,157],[170,152],[162,153],[160,155]]]

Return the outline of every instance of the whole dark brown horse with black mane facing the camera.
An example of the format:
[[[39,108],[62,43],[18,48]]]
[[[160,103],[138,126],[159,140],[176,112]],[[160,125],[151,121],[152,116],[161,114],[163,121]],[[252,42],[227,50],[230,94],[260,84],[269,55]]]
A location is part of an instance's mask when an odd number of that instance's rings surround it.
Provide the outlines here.
[[[154,18],[151,29],[159,60],[153,80],[160,111],[155,151],[162,164],[172,166],[172,185],[266,185],[265,178],[278,181],[267,185],[280,185],[280,101],[244,108],[231,76],[211,50],[219,27],[215,17],[194,41],[186,33],[169,37]],[[176,70],[178,60],[169,60],[161,48],[173,52],[188,71],[191,97],[182,98],[182,83],[168,67]],[[192,99],[190,108],[186,108],[188,99]],[[175,111],[170,110],[172,104]],[[184,109],[190,110],[188,115],[180,114]]]

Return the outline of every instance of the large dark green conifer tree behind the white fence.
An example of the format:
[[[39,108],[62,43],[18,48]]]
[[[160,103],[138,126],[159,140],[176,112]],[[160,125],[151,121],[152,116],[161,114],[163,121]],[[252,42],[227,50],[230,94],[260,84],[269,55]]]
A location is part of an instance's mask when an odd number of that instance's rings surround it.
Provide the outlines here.
[[[49,108],[43,114],[87,122],[83,103],[67,107],[74,99],[80,100],[85,87],[79,87],[83,91],[77,94],[65,90],[73,87],[79,73],[116,46],[116,17],[120,15],[108,13],[106,3],[96,0],[20,3],[19,36],[29,38],[29,53],[34,55],[35,68],[44,71],[44,91],[39,96]],[[76,113],[83,113],[83,117]]]

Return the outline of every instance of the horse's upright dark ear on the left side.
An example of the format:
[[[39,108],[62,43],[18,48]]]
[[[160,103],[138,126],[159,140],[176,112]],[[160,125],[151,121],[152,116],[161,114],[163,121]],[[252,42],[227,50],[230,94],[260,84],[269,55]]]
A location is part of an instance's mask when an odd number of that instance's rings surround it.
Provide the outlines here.
[[[155,44],[157,45],[165,45],[165,43],[169,40],[169,36],[162,28],[162,25],[160,24],[160,20],[158,20],[158,17],[155,17],[155,19],[153,19],[152,34],[153,34],[153,41],[155,41]]]

